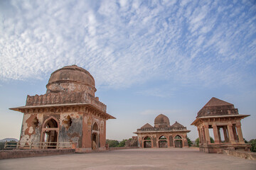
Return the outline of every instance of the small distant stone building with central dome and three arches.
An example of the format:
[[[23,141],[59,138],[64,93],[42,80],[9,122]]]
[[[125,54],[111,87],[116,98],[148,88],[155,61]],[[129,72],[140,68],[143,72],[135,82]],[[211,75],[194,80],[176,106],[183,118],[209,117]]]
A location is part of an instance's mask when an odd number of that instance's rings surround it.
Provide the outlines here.
[[[160,114],[154,120],[154,127],[146,123],[134,132],[138,135],[139,147],[188,147],[186,127],[176,122],[170,125],[169,118]]]

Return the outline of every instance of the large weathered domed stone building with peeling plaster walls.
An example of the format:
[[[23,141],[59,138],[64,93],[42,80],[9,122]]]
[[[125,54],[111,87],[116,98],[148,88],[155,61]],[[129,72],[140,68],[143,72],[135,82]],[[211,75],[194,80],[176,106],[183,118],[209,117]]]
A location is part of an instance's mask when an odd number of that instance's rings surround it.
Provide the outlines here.
[[[95,79],[76,65],[50,75],[43,95],[27,96],[26,106],[10,108],[24,113],[21,147],[58,148],[72,142],[77,152],[105,149],[107,106],[95,97]],[[47,148],[46,147],[46,148]]]

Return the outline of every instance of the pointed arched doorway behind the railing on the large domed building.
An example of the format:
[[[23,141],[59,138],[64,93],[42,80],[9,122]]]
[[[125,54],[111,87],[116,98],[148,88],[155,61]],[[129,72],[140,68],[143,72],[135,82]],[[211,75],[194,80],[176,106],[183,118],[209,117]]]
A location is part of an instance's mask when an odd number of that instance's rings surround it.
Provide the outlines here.
[[[55,149],[56,145],[58,143],[58,122],[55,120],[55,118],[48,118],[45,120],[45,123],[43,123],[43,129],[42,129],[42,142],[46,142],[46,147],[44,148],[50,148]]]

